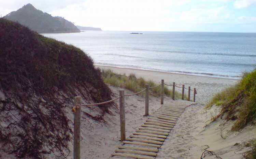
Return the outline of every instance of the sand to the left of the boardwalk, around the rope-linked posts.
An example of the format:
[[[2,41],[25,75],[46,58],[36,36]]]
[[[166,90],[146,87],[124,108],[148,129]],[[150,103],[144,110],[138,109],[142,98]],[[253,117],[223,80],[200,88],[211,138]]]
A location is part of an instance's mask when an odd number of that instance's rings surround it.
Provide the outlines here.
[[[114,93],[113,98],[119,96],[119,89],[117,87],[110,86]],[[125,90],[125,94],[131,94],[132,92]],[[172,99],[164,98],[164,102],[170,102]],[[117,107],[111,109],[112,115],[106,114],[104,120],[107,122],[97,122],[88,119],[82,112],[81,118],[81,158],[85,159],[106,159],[110,157],[110,154],[114,152],[117,146],[120,146],[120,115],[119,104],[116,100]],[[97,115],[100,111],[93,106],[83,107],[82,111],[90,112],[90,114]],[[160,107],[160,98],[156,98],[150,95],[149,113]],[[144,97],[140,95],[127,96],[125,98],[126,109],[126,136],[130,136],[148,117],[143,117],[145,112]],[[69,112],[69,119],[73,119],[71,110]],[[86,119],[84,118],[86,117]],[[70,143],[71,153],[68,158],[73,158],[73,144]]]

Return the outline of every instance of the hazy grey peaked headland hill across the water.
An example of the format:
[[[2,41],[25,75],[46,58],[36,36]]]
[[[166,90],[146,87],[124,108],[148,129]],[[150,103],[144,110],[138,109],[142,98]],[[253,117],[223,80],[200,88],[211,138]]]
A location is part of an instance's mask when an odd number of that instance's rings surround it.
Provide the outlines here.
[[[38,33],[80,32],[72,22],[62,17],[53,17],[50,14],[43,13],[30,3],[19,8],[17,11],[9,13],[3,18],[17,21]]]

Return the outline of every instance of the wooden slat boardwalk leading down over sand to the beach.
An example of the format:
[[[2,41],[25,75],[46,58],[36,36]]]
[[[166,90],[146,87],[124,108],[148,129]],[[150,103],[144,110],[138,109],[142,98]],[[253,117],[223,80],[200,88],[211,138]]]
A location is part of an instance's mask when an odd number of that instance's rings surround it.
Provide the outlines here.
[[[148,116],[138,130],[118,146],[110,159],[138,158],[154,159],[170,131],[174,128],[177,119],[186,107],[195,104],[189,101],[172,101],[161,105],[154,113]]]

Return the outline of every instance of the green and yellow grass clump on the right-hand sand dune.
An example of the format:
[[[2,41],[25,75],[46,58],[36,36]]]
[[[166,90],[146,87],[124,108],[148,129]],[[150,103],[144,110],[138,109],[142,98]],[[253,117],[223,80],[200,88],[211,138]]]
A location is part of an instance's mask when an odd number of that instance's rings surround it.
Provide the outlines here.
[[[232,130],[244,128],[256,120],[256,69],[245,72],[240,82],[217,93],[206,105],[221,105],[221,114],[227,113],[227,120],[236,120]],[[236,113],[238,112],[238,113]]]

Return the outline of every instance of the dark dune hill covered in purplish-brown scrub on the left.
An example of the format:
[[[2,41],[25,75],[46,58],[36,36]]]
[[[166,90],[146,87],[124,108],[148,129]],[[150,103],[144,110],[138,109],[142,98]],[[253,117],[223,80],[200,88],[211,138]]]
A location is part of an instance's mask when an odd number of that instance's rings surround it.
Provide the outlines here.
[[[100,70],[82,50],[3,18],[0,43],[0,158],[67,156],[74,96],[111,99]],[[100,121],[112,105],[83,108],[82,120]]]

